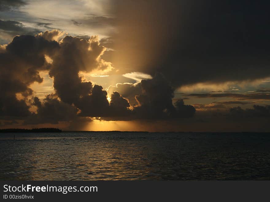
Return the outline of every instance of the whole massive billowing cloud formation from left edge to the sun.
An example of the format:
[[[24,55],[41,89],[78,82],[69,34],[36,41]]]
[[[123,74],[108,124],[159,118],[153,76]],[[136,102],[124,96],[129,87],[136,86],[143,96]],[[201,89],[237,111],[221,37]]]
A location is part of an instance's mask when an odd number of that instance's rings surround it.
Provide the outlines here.
[[[99,45],[98,38],[93,36],[86,41],[66,36],[56,42],[61,35],[59,30],[52,30],[35,37],[16,36],[6,47],[1,47],[0,115],[26,116],[24,124],[74,121],[78,110],[80,116],[89,117],[129,115],[129,102],[118,92],[112,92],[109,102],[102,86],[93,87],[79,76],[79,71],[112,68],[100,59],[105,48]],[[47,63],[45,55],[53,60],[52,64]],[[40,70],[49,70],[56,95],[47,96],[43,102],[34,97],[29,103],[27,97],[33,93],[29,85],[43,81]],[[21,100],[17,99],[17,93],[21,94]],[[36,107],[37,113],[30,113],[30,106]]]

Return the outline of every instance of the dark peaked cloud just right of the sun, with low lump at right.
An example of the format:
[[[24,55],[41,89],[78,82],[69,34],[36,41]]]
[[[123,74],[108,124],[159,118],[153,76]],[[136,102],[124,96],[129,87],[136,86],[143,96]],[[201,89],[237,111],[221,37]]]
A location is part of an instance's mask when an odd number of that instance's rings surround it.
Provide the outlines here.
[[[173,105],[174,89],[160,73],[156,73],[150,80],[142,80],[141,89],[142,94],[135,96],[139,106],[133,109],[133,114],[137,118],[184,118],[195,114],[195,108],[184,105],[182,99],[177,100]]]

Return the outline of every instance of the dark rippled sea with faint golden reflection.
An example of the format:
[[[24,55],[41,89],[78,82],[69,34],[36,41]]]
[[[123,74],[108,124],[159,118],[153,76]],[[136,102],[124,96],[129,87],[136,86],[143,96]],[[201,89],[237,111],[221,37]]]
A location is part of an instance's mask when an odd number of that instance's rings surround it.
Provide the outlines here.
[[[0,180],[270,180],[269,133],[0,134]]]

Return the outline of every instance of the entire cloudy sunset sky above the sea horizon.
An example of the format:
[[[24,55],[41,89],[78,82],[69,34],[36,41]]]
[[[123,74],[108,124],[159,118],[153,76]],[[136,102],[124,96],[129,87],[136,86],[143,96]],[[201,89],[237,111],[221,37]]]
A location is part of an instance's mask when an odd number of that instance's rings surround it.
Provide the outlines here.
[[[268,1],[0,1],[0,128],[269,132]]]

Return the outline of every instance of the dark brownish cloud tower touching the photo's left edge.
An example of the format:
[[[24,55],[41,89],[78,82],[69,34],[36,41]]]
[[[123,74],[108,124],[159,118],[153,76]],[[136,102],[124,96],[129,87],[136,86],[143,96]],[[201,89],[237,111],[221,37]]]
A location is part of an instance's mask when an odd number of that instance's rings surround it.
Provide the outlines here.
[[[48,69],[44,54],[51,55],[58,48],[34,36],[16,36],[0,53],[0,116],[24,117],[30,115],[26,97],[32,95],[29,85],[43,79],[39,70]],[[17,99],[16,94],[22,99]]]

